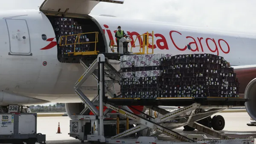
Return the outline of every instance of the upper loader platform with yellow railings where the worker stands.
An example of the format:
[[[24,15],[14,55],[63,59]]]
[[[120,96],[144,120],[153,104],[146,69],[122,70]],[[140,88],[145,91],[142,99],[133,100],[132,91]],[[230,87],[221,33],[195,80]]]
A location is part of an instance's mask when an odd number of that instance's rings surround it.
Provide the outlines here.
[[[86,37],[86,35],[95,35],[94,41],[89,41],[89,39]],[[146,32],[143,35],[137,35],[136,39],[134,40],[132,48],[139,48],[140,52],[132,52],[128,51],[128,43],[132,41],[130,38],[130,35],[125,34],[124,37],[122,37],[119,40],[119,43],[123,43],[119,46],[119,52],[114,51],[113,45],[114,41],[110,40],[109,46],[111,48],[111,51],[109,49],[97,49],[97,43],[99,43],[99,32],[85,32],[85,33],[78,33],[74,35],[62,35],[60,37],[60,43],[58,44],[58,47],[63,50],[63,48],[71,47],[72,49],[68,50],[69,52],[62,52],[62,55],[59,56],[59,60],[61,62],[66,63],[79,63],[79,59],[82,60],[95,60],[97,59],[97,56],[99,54],[105,55],[108,60],[120,60],[120,57],[123,55],[140,55],[140,54],[153,54],[154,49],[149,47],[149,44],[154,45],[154,37],[150,35],[154,35],[154,31],[152,33]],[[75,38],[74,38],[75,37]],[[83,38],[85,37],[85,39]],[[135,42],[140,37],[143,37],[143,43],[140,43],[140,45],[135,46]],[[149,42],[151,40],[151,42]],[[82,48],[80,46],[83,45],[90,45],[93,44],[92,48],[88,48],[85,50],[85,48]],[[112,47],[111,47],[112,46]],[[117,46],[116,46],[117,47]],[[117,49],[117,48],[116,48]],[[151,50],[151,52],[150,52]]]

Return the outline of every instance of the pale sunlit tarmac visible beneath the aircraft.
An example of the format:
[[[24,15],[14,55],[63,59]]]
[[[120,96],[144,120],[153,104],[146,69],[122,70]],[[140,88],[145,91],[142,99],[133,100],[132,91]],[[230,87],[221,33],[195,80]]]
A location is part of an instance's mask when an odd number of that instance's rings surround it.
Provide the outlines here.
[[[250,116],[247,114],[247,112],[223,112],[218,113],[218,115],[222,115],[225,119],[225,127],[224,130],[221,131],[222,133],[233,138],[249,136],[254,136],[256,138],[256,127],[247,126],[247,123],[250,123]],[[56,133],[58,130],[58,122],[60,123],[61,134]],[[68,135],[70,130],[69,125],[70,118],[67,116],[38,117],[37,132],[46,134],[47,144],[81,143],[81,141]],[[186,132],[183,131],[183,127],[177,128],[175,131],[185,136],[189,134],[205,134],[203,132],[198,132],[197,130],[193,132]],[[212,136],[207,135],[207,137]]]

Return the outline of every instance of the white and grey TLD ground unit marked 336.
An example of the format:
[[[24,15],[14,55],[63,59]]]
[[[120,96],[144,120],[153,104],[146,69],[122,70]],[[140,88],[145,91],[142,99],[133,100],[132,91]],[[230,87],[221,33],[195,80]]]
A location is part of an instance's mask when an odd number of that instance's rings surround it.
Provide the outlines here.
[[[45,135],[37,133],[36,113],[1,113],[0,143],[45,144]]]

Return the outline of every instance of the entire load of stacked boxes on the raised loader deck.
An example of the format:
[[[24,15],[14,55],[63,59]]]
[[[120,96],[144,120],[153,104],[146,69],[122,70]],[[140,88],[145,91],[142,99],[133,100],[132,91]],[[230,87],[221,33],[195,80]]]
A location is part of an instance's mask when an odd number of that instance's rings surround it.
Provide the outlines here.
[[[121,57],[122,98],[239,97],[239,82],[224,58],[212,54]]]

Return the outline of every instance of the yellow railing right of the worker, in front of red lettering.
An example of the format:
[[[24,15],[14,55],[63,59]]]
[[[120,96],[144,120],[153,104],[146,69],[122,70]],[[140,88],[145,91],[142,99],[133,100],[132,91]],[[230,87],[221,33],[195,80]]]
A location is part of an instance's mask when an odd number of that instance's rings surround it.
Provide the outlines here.
[[[150,34],[152,35],[151,37],[149,37]],[[152,33],[148,33],[147,32],[147,33],[145,33],[143,35],[138,35],[136,37],[136,39],[134,40],[133,45],[131,46],[131,52],[132,52],[133,48],[137,47],[137,46],[135,46],[135,43],[136,43],[137,40],[139,40],[139,37],[141,37],[141,36],[143,36],[143,40],[142,40],[143,43],[141,43],[139,41],[140,45],[138,45],[138,46],[140,46],[140,52],[135,52],[134,54],[138,54],[138,55],[145,54],[145,49],[146,49],[147,54],[153,54],[154,53],[154,31],[152,31]],[[152,39],[151,43],[149,43],[149,39]],[[152,45],[151,48],[149,48],[149,44]],[[152,51],[148,52],[149,49],[152,49]]]

